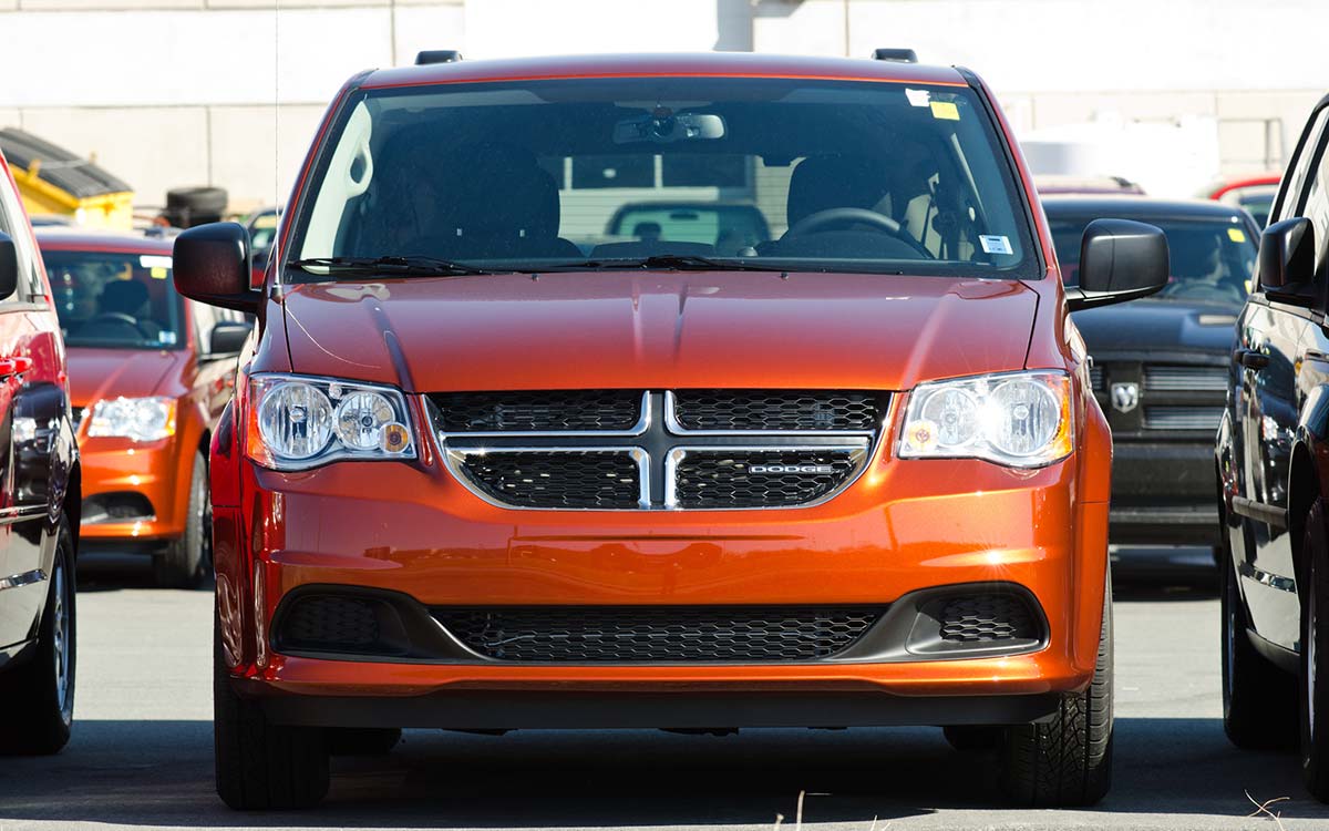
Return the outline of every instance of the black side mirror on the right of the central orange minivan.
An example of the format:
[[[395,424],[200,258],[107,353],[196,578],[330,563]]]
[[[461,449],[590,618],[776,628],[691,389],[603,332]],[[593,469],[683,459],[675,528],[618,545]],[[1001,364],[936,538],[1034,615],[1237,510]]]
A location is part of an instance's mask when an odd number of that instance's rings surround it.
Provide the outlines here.
[[[1167,285],[1167,237],[1152,225],[1095,219],[1080,242],[1079,289],[1066,290],[1071,311],[1123,303]]]

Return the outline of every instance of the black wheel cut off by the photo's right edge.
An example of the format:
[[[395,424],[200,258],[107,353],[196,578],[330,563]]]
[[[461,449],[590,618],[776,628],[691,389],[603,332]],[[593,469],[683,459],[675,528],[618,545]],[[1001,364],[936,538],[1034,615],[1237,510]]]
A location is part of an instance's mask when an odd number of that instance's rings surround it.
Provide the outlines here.
[[[1301,537],[1301,774],[1306,790],[1329,802],[1329,536],[1316,500]]]

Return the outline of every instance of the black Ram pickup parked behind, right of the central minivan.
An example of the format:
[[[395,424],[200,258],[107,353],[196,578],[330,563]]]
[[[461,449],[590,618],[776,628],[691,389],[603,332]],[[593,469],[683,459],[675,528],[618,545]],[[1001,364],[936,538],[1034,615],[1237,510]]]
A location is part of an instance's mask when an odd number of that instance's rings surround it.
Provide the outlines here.
[[[1080,237],[1094,219],[1136,219],[1167,234],[1171,277],[1162,291],[1073,319],[1112,428],[1111,541],[1217,545],[1213,433],[1259,227],[1240,207],[1209,201],[1045,197],[1043,210],[1067,283],[1078,282]]]

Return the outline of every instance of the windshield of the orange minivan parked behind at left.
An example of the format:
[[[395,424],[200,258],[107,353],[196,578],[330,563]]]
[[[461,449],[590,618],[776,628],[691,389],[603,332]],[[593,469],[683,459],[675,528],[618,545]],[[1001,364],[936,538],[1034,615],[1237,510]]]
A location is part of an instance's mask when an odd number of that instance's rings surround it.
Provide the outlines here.
[[[69,346],[170,350],[183,344],[183,311],[169,254],[43,251]]]

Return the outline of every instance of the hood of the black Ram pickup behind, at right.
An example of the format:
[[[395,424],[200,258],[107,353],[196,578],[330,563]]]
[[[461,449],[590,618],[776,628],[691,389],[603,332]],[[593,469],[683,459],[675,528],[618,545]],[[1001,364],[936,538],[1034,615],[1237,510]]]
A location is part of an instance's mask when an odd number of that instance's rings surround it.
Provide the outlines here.
[[[1184,300],[1131,300],[1071,315],[1090,354],[1232,350],[1240,307]]]

